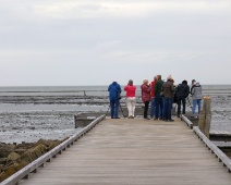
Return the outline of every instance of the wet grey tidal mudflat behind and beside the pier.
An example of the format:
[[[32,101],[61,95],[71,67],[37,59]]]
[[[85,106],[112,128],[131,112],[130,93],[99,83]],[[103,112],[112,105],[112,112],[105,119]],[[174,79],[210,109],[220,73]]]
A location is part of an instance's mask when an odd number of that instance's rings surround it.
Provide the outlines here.
[[[231,95],[216,94],[211,98],[211,130],[231,133]],[[81,131],[74,126],[74,115],[78,112],[108,110],[107,97],[8,96],[0,97],[0,101],[1,143],[63,139]],[[137,101],[141,106],[141,99]]]

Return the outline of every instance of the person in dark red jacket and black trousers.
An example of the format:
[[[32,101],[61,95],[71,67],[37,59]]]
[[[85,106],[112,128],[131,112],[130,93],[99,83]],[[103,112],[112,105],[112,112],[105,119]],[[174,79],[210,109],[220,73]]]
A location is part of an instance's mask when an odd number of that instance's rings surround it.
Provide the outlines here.
[[[149,106],[149,101],[150,101],[150,86],[148,85],[148,79],[143,81],[143,85],[141,86],[141,88],[142,88],[142,101],[145,103],[144,119],[150,120],[147,116],[148,106]]]

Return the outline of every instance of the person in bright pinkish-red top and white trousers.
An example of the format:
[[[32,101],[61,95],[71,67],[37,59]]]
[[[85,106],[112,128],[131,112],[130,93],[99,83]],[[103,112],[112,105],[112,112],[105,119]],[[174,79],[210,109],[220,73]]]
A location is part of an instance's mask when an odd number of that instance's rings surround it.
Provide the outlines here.
[[[135,89],[136,87],[133,85],[133,81],[130,79],[127,85],[124,87],[126,91],[126,107],[129,110],[129,119],[135,118]]]

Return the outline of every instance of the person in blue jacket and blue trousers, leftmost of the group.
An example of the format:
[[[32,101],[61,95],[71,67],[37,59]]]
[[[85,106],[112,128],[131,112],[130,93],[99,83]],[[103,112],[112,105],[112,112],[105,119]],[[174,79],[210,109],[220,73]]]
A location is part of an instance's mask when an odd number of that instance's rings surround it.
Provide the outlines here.
[[[111,119],[120,119],[118,116],[119,104],[120,104],[120,94],[121,87],[120,84],[113,82],[108,87],[109,91],[109,100],[110,100],[110,108],[111,108]]]

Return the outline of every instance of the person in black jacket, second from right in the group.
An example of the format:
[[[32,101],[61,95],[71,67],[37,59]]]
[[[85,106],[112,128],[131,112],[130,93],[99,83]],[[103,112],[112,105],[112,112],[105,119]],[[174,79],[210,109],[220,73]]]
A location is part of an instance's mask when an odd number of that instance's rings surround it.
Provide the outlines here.
[[[178,118],[180,118],[181,103],[183,106],[182,114],[185,114],[186,98],[190,94],[190,86],[186,81],[183,81],[182,84],[178,85],[175,94],[178,98]]]

